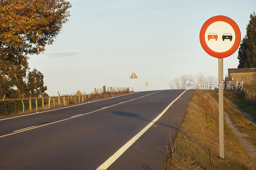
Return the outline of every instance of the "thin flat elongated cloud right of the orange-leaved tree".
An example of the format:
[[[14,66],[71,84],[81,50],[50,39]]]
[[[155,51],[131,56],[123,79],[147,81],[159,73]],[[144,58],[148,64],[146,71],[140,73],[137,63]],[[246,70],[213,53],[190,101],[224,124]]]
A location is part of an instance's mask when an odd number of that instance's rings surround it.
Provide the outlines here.
[[[45,52],[43,55],[47,55],[50,58],[59,58],[59,57],[68,57],[72,55],[77,55],[84,52],[89,52],[89,51],[87,50],[52,51],[52,52]]]

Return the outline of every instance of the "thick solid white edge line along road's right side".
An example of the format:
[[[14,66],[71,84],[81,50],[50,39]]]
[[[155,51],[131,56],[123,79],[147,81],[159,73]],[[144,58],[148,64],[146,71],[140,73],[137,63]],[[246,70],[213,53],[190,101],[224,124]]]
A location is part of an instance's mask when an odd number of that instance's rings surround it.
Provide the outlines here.
[[[184,92],[186,92],[185,90]],[[182,92],[175,100],[172,101],[160,115],[158,115],[152,122],[150,122],[145,128],[143,128],[137,135],[132,137],[131,140],[129,140],[124,146],[122,146],[116,153],[114,153],[108,160],[106,160],[103,164],[101,164],[96,170],[105,170],[107,169],[113,162],[116,161],[117,158],[119,158],[143,133],[145,133],[164,113],[168,110],[168,108],[180,98],[180,96],[184,93]]]

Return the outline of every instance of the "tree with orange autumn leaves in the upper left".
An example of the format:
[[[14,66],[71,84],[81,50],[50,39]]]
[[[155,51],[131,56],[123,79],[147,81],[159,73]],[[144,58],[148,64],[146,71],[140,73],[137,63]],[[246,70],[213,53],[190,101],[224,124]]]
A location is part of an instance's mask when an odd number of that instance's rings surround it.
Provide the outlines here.
[[[0,88],[10,71],[28,68],[28,55],[53,43],[70,7],[66,0],[0,0]]]

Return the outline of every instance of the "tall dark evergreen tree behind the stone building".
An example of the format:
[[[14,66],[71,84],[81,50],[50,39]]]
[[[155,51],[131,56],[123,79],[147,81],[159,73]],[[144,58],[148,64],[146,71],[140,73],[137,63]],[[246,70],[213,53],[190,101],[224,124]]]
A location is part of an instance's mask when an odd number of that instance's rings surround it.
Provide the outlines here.
[[[246,27],[246,35],[241,41],[238,51],[238,68],[256,67],[256,15],[250,15],[249,24]]]

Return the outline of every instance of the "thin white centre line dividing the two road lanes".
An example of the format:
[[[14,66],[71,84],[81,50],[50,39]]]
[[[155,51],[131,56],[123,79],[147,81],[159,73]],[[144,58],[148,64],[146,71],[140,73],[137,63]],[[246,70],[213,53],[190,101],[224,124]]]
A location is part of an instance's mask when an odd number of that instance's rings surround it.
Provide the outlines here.
[[[163,90],[160,90],[160,91],[157,91],[157,92],[161,92],[161,91],[163,91]],[[147,94],[146,96],[151,95],[151,94],[154,94],[154,93],[157,93],[157,92],[153,92],[153,93]],[[144,97],[145,97],[145,96],[144,96]],[[138,97],[138,98],[136,98],[136,99],[140,99],[140,98],[141,98],[141,97]],[[132,101],[132,100],[135,100],[135,99],[127,100],[127,101],[124,101],[123,103],[128,102],[128,101]],[[120,104],[122,104],[122,103],[117,103],[117,104],[115,104],[115,105],[108,106],[108,107],[113,107],[113,106],[120,105]],[[106,108],[108,108],[108,107],[106,107]],[[103,108],[103,109],[106,109],[106,108]],[[78,116],[76,116],[76,117],[83,116],[83,115],[87,115],[87,114],[90,114],[90,113],[93,113],[93,112],[97,112],[97,111],[100,111],[100,110],[103,110],[103,109],[94,110],[94,111],[92,111],[92,112],[85,113],[85,114],[82,114],[82,115],[78,115]],[[60,120],[60,121],[51,122],[51,123],[47,123],[47,124],[44,124],[44,125],[36,126],[36,127],[30,128],[30,129],[20,130],[20,131],[18,131],[18,132],[14,132],[14,133],[10,133],[10,134],[7,134],[7,135],[0,136],[0,138],[1,138],[1,137],[6,137],[6,136],[9,136],[9,135],[13,135],[13,134],[16,134],[16,133],[24,132],[24,131],[27,131],[27,130],[31,130],[31,129],[35,129],[35,128],[40,128],[40,127],[43,127],[43,126],[46,126],[46,125],[50,125],[50,124],[53,124],[53,123],[58,123],[58,122],[66,121],[66,120],[73,119],[73,118],[76,118],[76,117],[70,117],[70,118],[67,118],[67,119]]]

